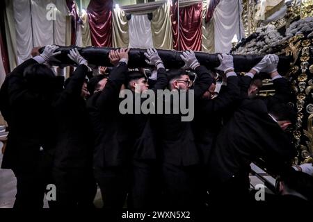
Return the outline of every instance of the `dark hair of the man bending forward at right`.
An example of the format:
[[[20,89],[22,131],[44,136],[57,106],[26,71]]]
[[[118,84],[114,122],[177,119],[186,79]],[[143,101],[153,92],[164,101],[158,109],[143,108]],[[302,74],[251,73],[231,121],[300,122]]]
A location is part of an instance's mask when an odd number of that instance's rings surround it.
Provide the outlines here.
[[[290,121],[292,124],[295,124],[297,120],[294,108],[284,103],[272,105],[268,113],[272,114],[277,121]]]

